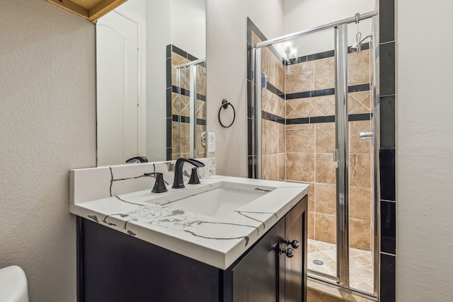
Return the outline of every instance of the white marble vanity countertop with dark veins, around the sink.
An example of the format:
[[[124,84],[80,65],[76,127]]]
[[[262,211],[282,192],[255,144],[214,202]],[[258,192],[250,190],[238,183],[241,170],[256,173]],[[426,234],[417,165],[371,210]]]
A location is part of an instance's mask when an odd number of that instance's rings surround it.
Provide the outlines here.
[[[127,233],[161,248],[228,268],[309,192],[309,185],[214,175],[199,185],[151,193],[139,190],[69,204],[73,214]],[[221,216],[193,213],[169,202],[228,183],[252,186],[263,195]],[[195,193],[194,193],[195,192]]]

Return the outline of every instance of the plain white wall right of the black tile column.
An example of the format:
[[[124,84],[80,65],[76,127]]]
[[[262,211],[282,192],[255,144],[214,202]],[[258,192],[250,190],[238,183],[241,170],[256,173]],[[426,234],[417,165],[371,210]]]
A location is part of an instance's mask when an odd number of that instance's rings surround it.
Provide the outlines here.
[[[396,8],[397,301],[453,301],[453,4]]]

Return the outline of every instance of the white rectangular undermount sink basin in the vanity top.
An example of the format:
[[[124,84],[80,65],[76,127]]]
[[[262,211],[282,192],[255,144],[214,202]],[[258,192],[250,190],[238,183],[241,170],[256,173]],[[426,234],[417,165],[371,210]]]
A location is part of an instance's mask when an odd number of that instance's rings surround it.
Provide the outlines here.
[[[164,207],[190,211],[205,216],[224,216],[262,197],[274,188],[218,182],[205,186],[202,192],[161,204]]]

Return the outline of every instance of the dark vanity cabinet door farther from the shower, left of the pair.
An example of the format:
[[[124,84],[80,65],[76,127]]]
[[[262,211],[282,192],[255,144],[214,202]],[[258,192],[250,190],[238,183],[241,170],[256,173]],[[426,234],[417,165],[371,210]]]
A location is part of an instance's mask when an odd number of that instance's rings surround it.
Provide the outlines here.
[[[281,219],[232,269],[234,302],[280,301],[285,257],[279,256],[278,248],[284,236],[285,219]]]

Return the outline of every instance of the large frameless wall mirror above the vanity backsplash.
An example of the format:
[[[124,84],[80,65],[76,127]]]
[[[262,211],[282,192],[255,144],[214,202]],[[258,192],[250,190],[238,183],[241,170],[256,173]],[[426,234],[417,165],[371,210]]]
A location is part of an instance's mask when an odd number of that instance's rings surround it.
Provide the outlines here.
[[[128,0],[98,19],[98,165],[206,156],[205,6]]]

